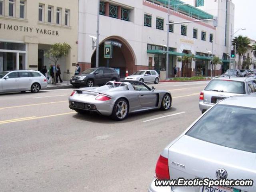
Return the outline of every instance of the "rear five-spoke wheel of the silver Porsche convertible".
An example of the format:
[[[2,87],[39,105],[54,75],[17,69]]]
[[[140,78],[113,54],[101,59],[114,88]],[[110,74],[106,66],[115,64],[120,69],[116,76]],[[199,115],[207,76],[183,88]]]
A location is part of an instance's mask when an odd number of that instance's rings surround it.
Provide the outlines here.
[[[122,121],[128,116],[128,102],[125,99],[119,99],[114,104],[112,118],[117,121]]]

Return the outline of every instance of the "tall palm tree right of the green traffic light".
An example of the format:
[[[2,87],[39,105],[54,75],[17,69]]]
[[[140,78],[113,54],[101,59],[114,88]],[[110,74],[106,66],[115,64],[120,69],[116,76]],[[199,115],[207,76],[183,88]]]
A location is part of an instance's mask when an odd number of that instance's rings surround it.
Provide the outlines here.
[[[250,44],[250,39],[246,36],[239,35],[232,41],[232,45],[236,45],[236,53],[238,54],[238,68],[242,69],[241,57],[244,55]]]

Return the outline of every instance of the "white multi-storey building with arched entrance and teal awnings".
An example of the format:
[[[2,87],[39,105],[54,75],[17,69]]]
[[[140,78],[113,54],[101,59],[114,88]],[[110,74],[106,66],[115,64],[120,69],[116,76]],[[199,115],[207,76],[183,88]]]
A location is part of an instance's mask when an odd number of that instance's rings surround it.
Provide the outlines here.
[[[183,4],[186,3],[186,4]],[[183,4],[183,5],[182,5]],[[223,60],[216,73],[229,68],[230,33],[234,26],[234,4],[231,0],[170,0],[170,22],[202,20],[218,17],[213,21],[186,24],[168,23],[168,0],[102,0],[100,3],[100,66],[120,68],[124,76],[142,69],[166,69],[166,39],[169,30],[168,75],[173,75],[176,65],[179,76],[184,64],[177,56],[196,55],[196,61],[187,66],[186,76],[210,75],[210,53]],[[175,11],[174,11],[175,10]],[[176,11],[177,10],[177,11]],[[82,69],[95,66],[96,51],[92,38],[96,36],[97,1],[79,1],[78,63]],[[213,39],[213,42],[212,42]],[[104,42],[117,41],[122,47],[113,46],[113,57],[104,58]]]

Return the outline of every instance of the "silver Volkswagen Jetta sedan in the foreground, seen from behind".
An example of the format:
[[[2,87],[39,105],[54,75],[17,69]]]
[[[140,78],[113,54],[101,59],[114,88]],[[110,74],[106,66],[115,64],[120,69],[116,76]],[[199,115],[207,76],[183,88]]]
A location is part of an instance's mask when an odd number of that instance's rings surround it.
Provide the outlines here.
[[[160,155],[154,180],[229,179],[256,181],[256,97],[232,96],[206,111]],[[155,186],[149,192],[255,192],[235,188]],[[221,190],[222,189],[222,190]]]

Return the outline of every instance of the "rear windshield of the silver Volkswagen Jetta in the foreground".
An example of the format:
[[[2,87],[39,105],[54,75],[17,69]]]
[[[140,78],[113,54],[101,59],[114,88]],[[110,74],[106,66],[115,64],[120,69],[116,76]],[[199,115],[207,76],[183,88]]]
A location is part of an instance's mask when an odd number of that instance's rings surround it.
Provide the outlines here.
[[[217,104],[186,135],[256,153],[256,109]]]

